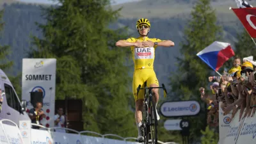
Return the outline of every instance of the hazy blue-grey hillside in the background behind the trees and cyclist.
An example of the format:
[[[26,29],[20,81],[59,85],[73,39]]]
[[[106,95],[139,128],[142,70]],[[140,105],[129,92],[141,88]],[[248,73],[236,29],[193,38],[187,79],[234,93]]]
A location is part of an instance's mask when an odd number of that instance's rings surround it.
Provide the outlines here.
[[[172,72],[176,70],[175,57],[180,56],[179,44],[183,40],[184,27],[189,20],[193,2],[146,0],[113,6],[114,9],[123,6],[123,9],[120,12],[120,19],[110,28],[127,26],[131,36],[138,36],[134,28],[136,20],[138,17],[148,17],[152,22],[150,37],[170,39],[175,42],[175,47],[163,49],[159,47],[156,51],[155,68],[160,83],[167,85],[168,77],[172,76]],[[234,1],[218,1],[218,3],[213,2],[212,6],[216,8],[218,23],[224,29],[225,39],[223,41],[234,44],[237,41],[237,33],[243,30],[236,15],[228,10],[229,6],[236,7],[236,4]],[[35,4],[12,3],[4,6],[4,9],[5,26],[0,43],[11,46],[12,55],[9,58],[15,61],[15,74],[18,74],[22,70],[22,58],[27,57],[26,54],[31,47],[30,36],[42,38],[42,33],[36,27],[35,22],[44,23],[45,19],[42,19],[40,6]]]

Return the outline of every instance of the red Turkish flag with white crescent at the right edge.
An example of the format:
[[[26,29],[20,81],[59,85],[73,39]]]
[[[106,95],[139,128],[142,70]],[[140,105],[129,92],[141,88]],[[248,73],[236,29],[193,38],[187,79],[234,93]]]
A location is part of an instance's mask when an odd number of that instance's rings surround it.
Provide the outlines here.
[[[256,8],[232,8],[252,38],[256,38]]]

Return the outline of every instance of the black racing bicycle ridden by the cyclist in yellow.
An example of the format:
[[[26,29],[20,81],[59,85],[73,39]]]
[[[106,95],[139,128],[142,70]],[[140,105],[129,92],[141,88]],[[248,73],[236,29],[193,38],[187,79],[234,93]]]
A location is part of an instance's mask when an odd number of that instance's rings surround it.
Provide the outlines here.
[[[166,97],[167,92],[164,84],[162,87],[149,87],[146,88],[147,82],[145,82],[145,88],[141,88],[141,84],[137,88],[137,96],[140,92],[140,89],[144,89],[144,101],[143,101],[143,111],[142,111],[142,126],[141,130],[143,132],[144,142],[145,144],[153,143],[157,144],[157,117],[156,117],[156,104],[152,99],[152,89],[153,88],[163,88],[164,97]],[[148,95],[147,91],[148,90]],[[149,141],[150,140],[150,141]]]

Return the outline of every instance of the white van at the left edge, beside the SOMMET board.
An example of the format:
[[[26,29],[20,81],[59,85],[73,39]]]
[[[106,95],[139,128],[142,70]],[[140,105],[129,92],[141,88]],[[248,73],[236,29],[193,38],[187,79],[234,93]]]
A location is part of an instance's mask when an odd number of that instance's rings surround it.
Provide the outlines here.
[[[0,88],[2,93],[3,102],[0,111],[0,119],[8,119],[19,125],[19,120],[30,120],[26,113],[26,100],[20,102],[17,93],[15,92],[12,83],[0,69]]]

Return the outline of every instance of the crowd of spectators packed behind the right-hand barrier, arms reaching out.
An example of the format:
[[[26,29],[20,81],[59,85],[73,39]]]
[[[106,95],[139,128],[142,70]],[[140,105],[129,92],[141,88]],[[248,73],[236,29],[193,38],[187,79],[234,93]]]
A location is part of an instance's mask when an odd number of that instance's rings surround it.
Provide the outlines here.
[[[199,88],[201,99],[207,103],[207,124],[218,127],[219,104],[223,110],[223,115],[232,112],[231,119],[239,115],[254,116],[256,108],[256,66],[253,57],[234,58],[233,67],[223,72],[222,76],[210,76],[211,92],[206,92],[205,88]],[[237,114],[238,109],[241,109]]]

